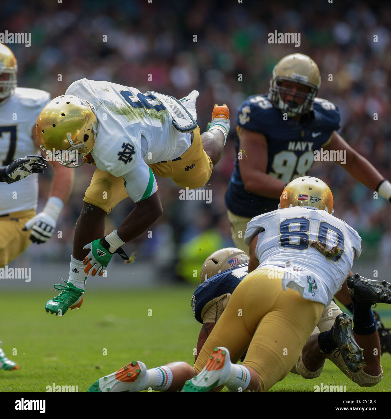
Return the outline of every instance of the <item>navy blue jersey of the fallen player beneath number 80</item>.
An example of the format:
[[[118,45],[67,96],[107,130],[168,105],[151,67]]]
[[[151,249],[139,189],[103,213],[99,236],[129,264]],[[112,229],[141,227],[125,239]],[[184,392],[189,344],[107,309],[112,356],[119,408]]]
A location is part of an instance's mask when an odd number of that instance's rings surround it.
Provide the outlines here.
[[[248,263],[245,263],[213,275],[198,285],[192,297],[192,309],[196,320],[202,323],[201,313],[205,305],[220,295],[232,294],[247,274]]]

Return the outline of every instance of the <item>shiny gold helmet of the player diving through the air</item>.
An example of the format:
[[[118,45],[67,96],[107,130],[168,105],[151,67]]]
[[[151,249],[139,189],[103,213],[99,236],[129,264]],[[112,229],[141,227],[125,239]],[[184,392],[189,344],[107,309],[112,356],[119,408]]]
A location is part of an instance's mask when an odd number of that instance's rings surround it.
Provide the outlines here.
[[[55,153],[60,150],[62,155],[58,161],[61,165],[79,167],[86,159],[78,163],[78,155],[87,155],[94,147],[97,117],[87,101],[72,95],[58,96],[39,114],[36,133],[43,151]]]

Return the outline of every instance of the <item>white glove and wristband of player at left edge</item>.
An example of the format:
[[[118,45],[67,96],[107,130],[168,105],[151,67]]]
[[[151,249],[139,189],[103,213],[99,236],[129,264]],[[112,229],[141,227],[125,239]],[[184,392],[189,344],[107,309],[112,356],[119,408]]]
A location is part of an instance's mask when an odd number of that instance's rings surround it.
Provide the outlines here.
[[[44,243],[51,238],[63,208],[64,202],[60,198],[50,197],[43,211],[26,222],[23,230],[26,231],[32,227],[30,240],[33,243]]]

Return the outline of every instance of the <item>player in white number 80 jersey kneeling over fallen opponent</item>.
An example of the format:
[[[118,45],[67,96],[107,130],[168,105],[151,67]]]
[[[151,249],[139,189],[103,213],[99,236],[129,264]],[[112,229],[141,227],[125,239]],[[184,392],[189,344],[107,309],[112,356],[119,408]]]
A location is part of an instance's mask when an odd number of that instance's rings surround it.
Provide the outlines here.
[[[312,206],[301,206],[299,195],[309,190],[323,198],[322,204],[319,199]],[[324,307],[345,281],[353,259],[360,256],[361,239],[353,228],[331,215],[332,194],[320,179],[299,178],[284,191],[281,209],[249,223],[245,241],[250,248],[250,273],[232,293],[194,367],[174,362],[147,370],[142,362],[133,361],[97,380],[89,391],[142,391],[148,387],[177,391],[183,386],[183,391],[204,392],[223,385],[229,391],[267,391],[288,374],[321,321]],[[355,318],[355,328],[368,335],[368,341],[373,337],[373,351],[379,344],[376,326],[373,330],[371,324],[371,304],[391,303],[391,284],[352,277],[348,285],[358,305],[355,312],[361,313],[361,318]],[[326,353],[339,346],[346,366],[358,373],[363,367],[362,349],[355,345],[350,324],[351,318],[342,313],[330,331],[314,336]],[[246,350],[243,364],[235,364]],[[378,367],[374,376],[381,374],[380,364]]]

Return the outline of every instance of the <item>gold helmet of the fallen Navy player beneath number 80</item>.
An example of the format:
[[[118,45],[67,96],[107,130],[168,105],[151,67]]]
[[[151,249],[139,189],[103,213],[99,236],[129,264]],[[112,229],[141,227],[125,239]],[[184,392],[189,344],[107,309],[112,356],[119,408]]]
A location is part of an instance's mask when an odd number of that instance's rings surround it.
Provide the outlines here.
[[[202,265],[201,283],[219,272],[248,263],[249,260],[250,258],[246,252],[235,247],[217,250],[208,256]]]

